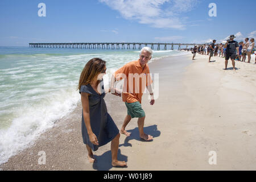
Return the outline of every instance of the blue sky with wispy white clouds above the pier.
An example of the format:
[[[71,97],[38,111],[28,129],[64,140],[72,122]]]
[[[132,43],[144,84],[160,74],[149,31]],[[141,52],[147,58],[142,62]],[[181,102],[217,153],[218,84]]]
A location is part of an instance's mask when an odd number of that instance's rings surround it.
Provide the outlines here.
[[[46,4],[46,17],[38,4]],[[208,7],[216,3],[217,16]],[[33,42],[204,43],[256,37],[255,0],[1,0],[0,46]]]

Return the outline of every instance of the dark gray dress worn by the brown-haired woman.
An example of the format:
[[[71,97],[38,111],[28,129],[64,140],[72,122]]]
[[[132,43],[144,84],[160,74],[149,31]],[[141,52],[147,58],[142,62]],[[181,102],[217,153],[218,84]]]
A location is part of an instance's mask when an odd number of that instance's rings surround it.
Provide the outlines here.
[[[89,93],[89,110],[90,110],[90,126],[92,127],[93,133],[98,139],[98,146],[90,142],[87,129],[84,122],[84,115],[82,114],[82,139],[84,144],[88,144],[93,151],[98,150],[98,147],[104,146],[113,140],[119,130],[115,125],[112,117],[110,117],[106,104],[104,101],[105,92],[103,80],[100,82],[101,95],[98,94],[90,84],[82,85],[79,93]]]

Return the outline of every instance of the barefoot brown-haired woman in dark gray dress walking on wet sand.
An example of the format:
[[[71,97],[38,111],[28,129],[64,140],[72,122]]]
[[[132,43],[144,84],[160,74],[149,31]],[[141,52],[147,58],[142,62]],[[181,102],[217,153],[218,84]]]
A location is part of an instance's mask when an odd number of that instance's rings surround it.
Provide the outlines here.
[[[119,130],[110,117],[104,101],[105,92],[102,77],[106,73],[106,62],[93,58],[86,63],[79,80],[82,102],[82,139],[88,150],[90,163],[94,162],[93,152],[111,141],[112,166],[126,166],[117,160]],[[121,96],[117,92],[116,96]]]

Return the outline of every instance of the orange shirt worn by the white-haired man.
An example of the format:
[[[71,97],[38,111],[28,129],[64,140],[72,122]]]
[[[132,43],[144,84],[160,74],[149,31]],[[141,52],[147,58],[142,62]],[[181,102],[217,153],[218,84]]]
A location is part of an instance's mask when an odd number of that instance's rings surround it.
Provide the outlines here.
[[[144,68],[139,64],[139,59],[125,64],[114,73],[115,79],[122,80],[122,100],[123,102],[133,103],[139,101],[141,103],[143,92],[146,86],[152,84],[150,70],[148,64]]]

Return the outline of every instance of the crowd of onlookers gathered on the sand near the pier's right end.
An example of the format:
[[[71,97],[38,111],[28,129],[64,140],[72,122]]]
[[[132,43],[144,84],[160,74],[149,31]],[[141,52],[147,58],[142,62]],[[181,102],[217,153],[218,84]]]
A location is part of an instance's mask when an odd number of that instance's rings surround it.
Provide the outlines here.
[[[246,56],[247,56],[247,63],[250,63],[251,61],[251,54],[255,53],[255,43],[254,38],[250,39],[245,38],[245,41],[241,40],[239,43],[234,40],[236,38],[234,35],[230,35],[229,39],[225,42],[222,42],[220,44],[216,44],[216,40],[213,40],[210,44],[204,44],[197,46],[195,45],[193,48],[185,49],[186,51],[191,51],[193,53],[192,60],[195,59],[196,53],[199,53],[201,55],[209,55],[209,62],[210,58],[213,56],[221,56],[225,58],[225,63],[227,63],[227,60],[229,58],[232,60],[233,68],[234,68],[234,61],[242,61],[246,62]],[[256,53],[255,53],[256,54]],[[256,64],[256,57],[255,57],[255,64]],[[226,69],[226,65],[225,65]]]

